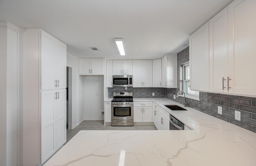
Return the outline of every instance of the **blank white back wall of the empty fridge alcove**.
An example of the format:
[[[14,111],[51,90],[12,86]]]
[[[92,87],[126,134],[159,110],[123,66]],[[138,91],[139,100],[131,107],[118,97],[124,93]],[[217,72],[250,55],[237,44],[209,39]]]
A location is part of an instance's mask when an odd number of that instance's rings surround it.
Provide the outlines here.
[[[103,120],[104,76],[84,76],[84,119]]]

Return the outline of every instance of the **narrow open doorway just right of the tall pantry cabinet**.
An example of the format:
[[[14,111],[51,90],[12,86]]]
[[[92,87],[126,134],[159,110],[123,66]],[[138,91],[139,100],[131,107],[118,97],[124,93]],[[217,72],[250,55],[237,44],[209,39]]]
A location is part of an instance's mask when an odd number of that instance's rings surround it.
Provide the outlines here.
[[[72,129],[72,68],[67,66],[67,88],[66,88],[66,121],[67,129]]]

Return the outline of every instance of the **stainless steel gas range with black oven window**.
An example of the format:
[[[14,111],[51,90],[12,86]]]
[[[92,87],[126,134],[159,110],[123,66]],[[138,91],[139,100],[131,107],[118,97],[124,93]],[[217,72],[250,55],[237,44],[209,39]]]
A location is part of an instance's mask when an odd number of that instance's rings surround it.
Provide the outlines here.
[[[133,126],[132,92],[114,92],[111,101],[111,125]]]

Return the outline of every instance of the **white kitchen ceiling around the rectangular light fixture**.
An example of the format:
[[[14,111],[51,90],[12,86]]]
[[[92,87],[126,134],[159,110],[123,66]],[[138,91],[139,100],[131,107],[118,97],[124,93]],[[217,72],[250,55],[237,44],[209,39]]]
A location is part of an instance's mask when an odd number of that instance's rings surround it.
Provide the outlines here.
[[[77,57],[155,59],[186,48],[178,45],[231,1],[0,0],[0,21],[44,29]],[[115,37],[124,38],[125,57]]]

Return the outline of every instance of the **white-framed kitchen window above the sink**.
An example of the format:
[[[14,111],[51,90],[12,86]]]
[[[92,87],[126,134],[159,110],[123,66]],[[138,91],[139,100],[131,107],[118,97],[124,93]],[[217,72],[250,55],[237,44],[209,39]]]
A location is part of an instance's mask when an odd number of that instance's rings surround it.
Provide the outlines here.
[[[183,75],[183,85],[180,88],[186,93],[186,97],[199,100],[199,91],[190,90],[189,62],[182,64],[180,69],[182,69],[180,75]]]

